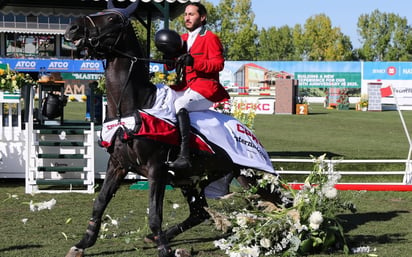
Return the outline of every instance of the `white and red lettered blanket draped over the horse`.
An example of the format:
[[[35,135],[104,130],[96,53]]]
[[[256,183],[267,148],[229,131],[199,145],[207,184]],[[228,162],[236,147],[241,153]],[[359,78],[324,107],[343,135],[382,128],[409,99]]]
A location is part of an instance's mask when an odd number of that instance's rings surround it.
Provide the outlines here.
[[[173,107],[175,92],[167,86],[157,85],[157,87],[157,102],[152,109],[140,111],[142,126],[136,135],[178,145],[179,132],[175,126],[176,117]],[[261,142],[249,128],[234,117],[208,110],[191,112],[190,120],[192,127],[201,136],[223,148],[234,163],[276,173]],[[119,126],[125,123],[122,122]],[[102,132],[105,126],[106,123],[102,126]],[[212,148],[201,136],[192,133],[191,147],[212,153]],[[104,138],[103,134],[102,137]],[[111,139],[105,138],[105,141],[111,142]]]

